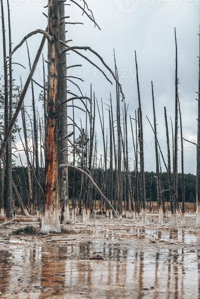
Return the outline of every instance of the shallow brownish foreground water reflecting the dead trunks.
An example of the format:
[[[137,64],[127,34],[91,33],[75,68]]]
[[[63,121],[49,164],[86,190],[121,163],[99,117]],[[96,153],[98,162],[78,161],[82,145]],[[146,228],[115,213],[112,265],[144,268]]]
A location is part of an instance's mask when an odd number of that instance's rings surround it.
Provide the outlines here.
[[[140,233],[149,235],[143,229],[138,229]],[[166,233],[157,235],[163,238]],[[113,240],[113,235],[109,238]],[[168,238],[188,242],[194,236],[174,230]],[[159,250],[155,246],[148,252],[109,240],[68,247],[6,244],[0,250],[0,292],[31,299],[200,298],[200,250],[196,247]]]

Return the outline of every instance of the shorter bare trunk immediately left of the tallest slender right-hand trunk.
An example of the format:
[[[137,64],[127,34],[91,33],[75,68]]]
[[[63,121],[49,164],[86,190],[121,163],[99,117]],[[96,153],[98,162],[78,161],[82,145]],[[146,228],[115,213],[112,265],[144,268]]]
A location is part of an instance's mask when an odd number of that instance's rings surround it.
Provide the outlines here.
[[[167,123],[167,113],[165,109],[165,127],[166,127],[166,137],[167,137],[167,157],[168,157],[168,175],[169,175],[169,198],[171,207],[171,225],[175,225],[175,215],[174,215],[174,201],[172,195],[172,172],[171,172],[171,158],[170,158],[170,147],[169,147],[169,131]]]

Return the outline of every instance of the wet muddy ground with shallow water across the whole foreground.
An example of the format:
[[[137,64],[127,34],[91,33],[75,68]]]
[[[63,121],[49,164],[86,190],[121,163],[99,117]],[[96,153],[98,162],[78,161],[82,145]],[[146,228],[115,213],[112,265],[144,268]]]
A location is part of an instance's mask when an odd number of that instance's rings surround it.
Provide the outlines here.
[[[67,235],[0,227],[0,292],[7,298],[200,298],[200,230],[92,217]],[[39,223],[35,222],[39,228]],[[71,230],[72,229],[72,230]],[[71,230],[71,232],[70,232]],[[157,240],[173,240],[176,244]],[[179,241],[179,242],[178,242]]]

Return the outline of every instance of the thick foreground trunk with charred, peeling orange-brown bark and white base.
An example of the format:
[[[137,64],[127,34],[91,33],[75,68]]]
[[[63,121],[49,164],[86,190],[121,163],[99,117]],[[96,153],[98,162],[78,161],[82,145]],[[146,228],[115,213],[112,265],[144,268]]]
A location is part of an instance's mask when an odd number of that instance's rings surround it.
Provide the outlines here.
[[[60,7],[59,0],[48,1],[48,88],[46,120],[45,194],[42,232],[60,232]]]

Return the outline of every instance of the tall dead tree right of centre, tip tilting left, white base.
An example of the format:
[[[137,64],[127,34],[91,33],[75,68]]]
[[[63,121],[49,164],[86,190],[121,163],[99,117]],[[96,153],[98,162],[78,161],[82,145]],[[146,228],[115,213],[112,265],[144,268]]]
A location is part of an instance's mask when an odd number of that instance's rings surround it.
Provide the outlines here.
[[[142,123],[142,108],[140,101],[140,87],[138,78],[138,67],[137,58],[135,51],[135,62],[136,62],[136,77],[137,77],[137,92],[138,92],[138,102],[139,102],[139,119],[140,123],[140,172],[141,172],[141,190],[142,193],[142,223],[147,224],[147,210],[146,210],[146,193],[145,193],[145,178],[144,178],[144,137],[143,137],[143,123]]]

